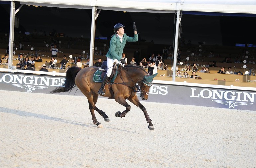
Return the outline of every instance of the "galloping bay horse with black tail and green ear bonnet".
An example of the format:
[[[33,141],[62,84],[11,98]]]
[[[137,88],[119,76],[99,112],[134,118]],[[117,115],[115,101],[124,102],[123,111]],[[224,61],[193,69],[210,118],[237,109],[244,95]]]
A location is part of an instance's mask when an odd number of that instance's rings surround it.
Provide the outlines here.
[[[153,83],[153,78],[157,74],[150,75],[144,69],[136,66],[117,67],[116,78],[113,83],[109,84],[108,82],[108,84],[106,84],[104,95],[104,97],[115,99],[116,102],[126,108],[122,113],[120,111],[116,112],[115,116],[123,118],[131,110],[131,106],[126,102],[127,99],[143,111],[146,121],[149,123],[149,130],[154,130],[155,128],[152,124],[152,120],[149,118],[146,108],[140,103],[136,92],[140,91],[141,99],[147,100],[150,86]],[[83,69],[78,67],[69,68],[66,72],[65,83],[63,86],[55,88],[51,93],[71,91],[76,85],[88,99],[93,124],[97,125],[99,128],[103,128],[102,124],[97,121],[94,114],[94,110],[96,110],[104,118],[104,121],[110,121],[106,113],[98,109],[95,105],[98,100],[99,95],[97,92],[101,83],[94,82],[93,74],[98,69],[98,67],[93,66]]]

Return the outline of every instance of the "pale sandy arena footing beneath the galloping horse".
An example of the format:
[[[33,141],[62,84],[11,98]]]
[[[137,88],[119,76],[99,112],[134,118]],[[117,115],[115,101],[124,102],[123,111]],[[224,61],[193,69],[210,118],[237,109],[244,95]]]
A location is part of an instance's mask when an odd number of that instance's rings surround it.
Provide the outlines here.
[[[150,95],[149,95],[150,96]],[[141,101],[1,91],[0,167],[255,167],[256,112]]]

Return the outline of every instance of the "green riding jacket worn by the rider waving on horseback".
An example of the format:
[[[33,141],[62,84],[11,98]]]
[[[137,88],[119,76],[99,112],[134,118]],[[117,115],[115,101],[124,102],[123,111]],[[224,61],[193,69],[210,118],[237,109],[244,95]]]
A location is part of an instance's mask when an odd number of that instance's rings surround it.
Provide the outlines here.
[[[138,34],[134,34],[134,37],[129,37],[126,34],[123,35],[122,43],[120,38],[116,35],[113,35],[110,40],[109,51],[107,52],[106,57],[111,59],[117,59],[118,61],[122,58],[122,53],[126,42],[136,42],[138,41]]]

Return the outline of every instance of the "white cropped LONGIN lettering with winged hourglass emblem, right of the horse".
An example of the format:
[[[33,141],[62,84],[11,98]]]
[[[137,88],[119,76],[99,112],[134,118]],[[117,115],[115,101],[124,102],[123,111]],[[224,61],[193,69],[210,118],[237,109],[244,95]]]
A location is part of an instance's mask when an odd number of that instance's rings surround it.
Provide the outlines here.
[[[256,93],[240,92],[240,91],[224,91],[203,89],[196,92],[196,88],[191,88],[191,96],[195,98],[211,99],[213,102],[228,105],[228,108],[235,108],[238,105],[252,105]]]

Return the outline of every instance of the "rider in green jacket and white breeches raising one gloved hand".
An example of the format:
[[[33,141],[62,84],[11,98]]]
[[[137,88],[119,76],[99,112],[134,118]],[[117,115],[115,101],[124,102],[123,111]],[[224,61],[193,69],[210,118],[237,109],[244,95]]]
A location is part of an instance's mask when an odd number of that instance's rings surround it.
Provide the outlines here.
[[[111,37],[109,51],[106,54],[107,57],[107,74],[104,76],[101,84],[101,88],[98,91],[99,95],[105,95],[105,85],[112,73],[113,63],[119,63],[119,61],[125,64],[125,60],[122,59],[122,53],[126,42],[136,42],[138,41],[138,33],[135,22],[133,22],[134,37],[129,37],[124,33],[124,27],[122,24],[118,23],[114,26],[115,34]]]

